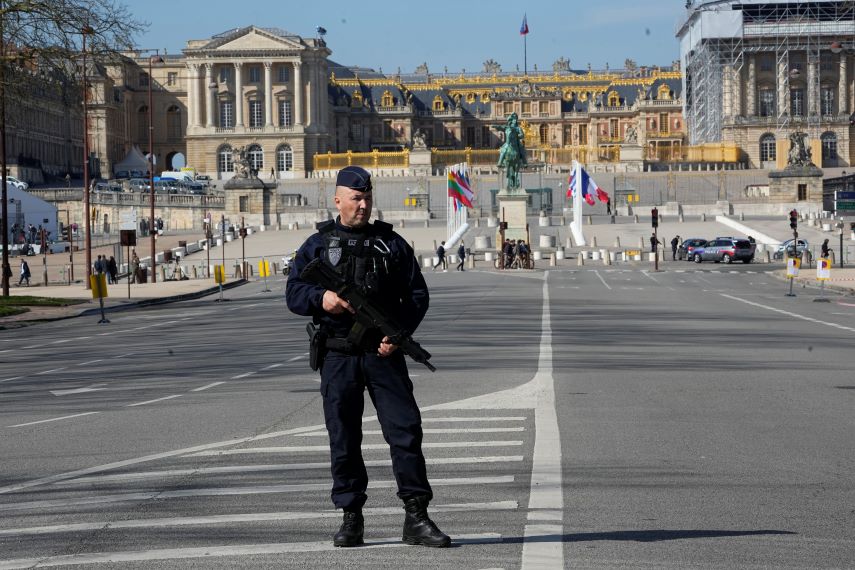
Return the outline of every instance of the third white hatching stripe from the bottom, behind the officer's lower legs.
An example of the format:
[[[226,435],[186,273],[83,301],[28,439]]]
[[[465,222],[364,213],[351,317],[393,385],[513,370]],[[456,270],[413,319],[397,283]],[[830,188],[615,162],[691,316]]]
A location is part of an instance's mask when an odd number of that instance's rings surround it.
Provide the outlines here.
[[[451,487],[455,485],[508,485],[514,482],[513,475],[498,477],[449,477],[432,479],[432,487]],[[73,499],[52,499],[46,501],[24,501],[20,503],[0,504],[0,511],[28,511],[74,507],[80,505],[104,505],[107,503],[128,503],[139,501],[162,501],[164,499],[182,499],[186,497],[232,497],[241,495],[272,495],[279,493],[300,493],[303,491],[328,491],[330,484],[289,483],[285,485],[257,485],[254,487],[208,487],[202,489],[181,489],[177,491],[145,491],[141,493],[117,493],[115,495],[90,495]],[[397,489],[395,480],[369,481],[369,489]],[[2,568],[2,566],[0,566]]]

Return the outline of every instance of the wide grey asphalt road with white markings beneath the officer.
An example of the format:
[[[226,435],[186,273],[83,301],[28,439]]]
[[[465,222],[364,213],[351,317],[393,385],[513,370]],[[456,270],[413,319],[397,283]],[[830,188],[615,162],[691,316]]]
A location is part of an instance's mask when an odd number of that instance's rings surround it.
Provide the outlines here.
[[[851,567],[855,301],[768,269],[429,272],[439,551],[399,542],[368,401],[368,545],[331,547],[283,282],[3,331],[0,569]]]

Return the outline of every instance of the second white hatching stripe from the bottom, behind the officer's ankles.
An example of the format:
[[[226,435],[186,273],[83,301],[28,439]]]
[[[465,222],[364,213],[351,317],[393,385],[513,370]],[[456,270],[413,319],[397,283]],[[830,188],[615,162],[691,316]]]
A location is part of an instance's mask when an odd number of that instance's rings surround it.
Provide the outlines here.
[[[515,511],[519,508],[516,501],[496,501],[493,503],[452,503],[431,505],[431,513],[465,513],[478,511]],[[368,507],[362,510],[365,515],[397,515],[400,507]],[[33,536],[39,534],[58,534],[63,532],[91,532],[119,528],[169,528],[178,526],[207,526],[214,524],[234,524],[250,522],[312,520],[341,518],[341,511],[280,511],[271,513],[240,513],[233,515],[208,515],[198,517],[169,517],[151,519],[131,519],[121,521],[96,521],[91,523],[60,524],[53,526],[35,526],[0,530],[0,537]],[[2,561],[0,561],[2,563]]]

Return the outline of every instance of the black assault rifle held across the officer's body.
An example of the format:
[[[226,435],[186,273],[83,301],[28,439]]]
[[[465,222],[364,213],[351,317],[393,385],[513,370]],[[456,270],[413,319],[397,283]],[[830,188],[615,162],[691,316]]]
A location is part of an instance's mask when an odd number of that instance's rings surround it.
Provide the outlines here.
[[[428,362],[431,357],[430,353],[413,340],[413,337],[404,327],[399,325],[376,302],[369,299],[359,287],[349,284],[338,273],[330,269],[323,260],[314,259],[309,262],[300,273],[300,279],[320,285],[350,303],[350,306],[356,311],[354,328],[361,330],[379,329],[384,336],[389,337],[389,343],[397,345],[404,354],[409,355],[416,362],[424,364],[431,372],[436,372],[433,364]]]

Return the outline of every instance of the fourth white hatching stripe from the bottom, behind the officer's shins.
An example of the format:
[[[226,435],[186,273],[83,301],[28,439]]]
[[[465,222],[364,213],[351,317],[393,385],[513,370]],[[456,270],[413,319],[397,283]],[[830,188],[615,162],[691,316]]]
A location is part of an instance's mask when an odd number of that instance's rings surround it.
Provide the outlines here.
[[[478,463],[517,463],[523,460],[522,455],[500,455],[481,457],[429,457],[428,465],[471,465]],[[391,459],[371,459],[365,462],[367,467],[387,467],[392,465]],[[223,467],[200,467],[197,469],[171,469],[164,471],[138,471],[135,473],[118,473],[116,475],[94,475],[80,477],[54,483],[55,487],[73,487],[91,483],[123,483],[145,479],[165,479],[169,477],[188,477],[194,475],[229,475],[236,473],[269,473],[279,471],[306,471],[312,469],[329,469],[329,461],[313,463],[274,463],[254,465],[226,465]]]

